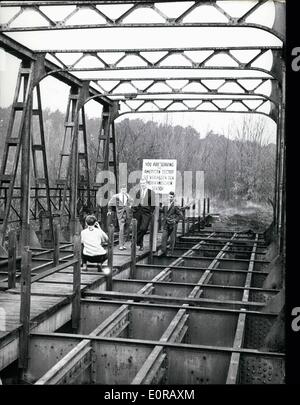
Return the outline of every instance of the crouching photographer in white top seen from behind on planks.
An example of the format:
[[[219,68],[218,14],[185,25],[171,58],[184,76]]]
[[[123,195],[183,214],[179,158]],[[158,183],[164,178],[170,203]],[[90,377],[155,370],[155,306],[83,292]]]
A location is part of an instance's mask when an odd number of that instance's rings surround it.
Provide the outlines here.
[[[102,263],[107,259],[107,252],[102,244],[108,242],[108,236],[101,229],[94,215],[88,215],[85,223],[87,228],[81,231],[83,270],[87,271],[87,262],[90,262],[97,263],[98,271],[101,271]]]

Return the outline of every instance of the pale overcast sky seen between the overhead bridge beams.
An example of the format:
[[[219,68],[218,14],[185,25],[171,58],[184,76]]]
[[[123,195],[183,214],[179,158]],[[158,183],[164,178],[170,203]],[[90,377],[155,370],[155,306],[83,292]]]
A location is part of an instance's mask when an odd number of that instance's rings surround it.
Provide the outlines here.
[[[255,2],[253,1],[225,1],[218,2],[226,11],[233,16],[241,15],[249,9]],[[179,13],[184,11],[192,5],[193,2],[174,3],[174,4],[158,4],[159,9],[170,17],[176,17]],[[73,8],[72,8],[73,7]],[[124,6],[101,6],[101,10],[107,13],[110,18],[116,18],[123,10],[128,8],[128,5]],[[123,7],[122,9],[120,7]],[[99,8],[99,7],[98,7]],[[44,8],[44,11],[53,18],[59,20],[64,15],[68,15],[70,11],[74,9],[74,6],[68,7],[49,7]],[[186,18],[186,22],[199,21],[214,21],[216,10],[211,7],[197,9],[194,14],[190,14]],[[9,9],[0,8],[0,23],[7,22],[11,17],[12,11]],[[223,16],[222,16],[223,18]],[[271,27],[274,22],[274,5],[270,1],[259,9],[259,13],[251,17],[249,22],[255,21],[259,24],[267,25]],[[30,23],[28,23],[30,21]],[[160,22],[161,17],[157,16],[153,10],[137,10],[126,19],[125,22]],[[221,21],[221,20],[220,20]],[[77,23],[95,23],[103,22],[97,20],[95,15],[92,15],[89,10],[82,10],[80,14],[74,15],[70,21],[70,24]],[[20,16],[19,20],[15,21],[15,26],[18,24],[30,24],[30,25],[45,25],[45,21],[41,21],[41,17],[32,12],[26,12]],[[138,34],[137,34],[138,33]],[[124,48],[179,48],[179,47],[201,47],[201,46],[239,46],[239,45],[281,45],[281,42],[274,38],[271,34],[256,29],[248,28],[106,28],[106,29],[85,29],[85,30],[66,30],[66,31],[41,31],[35,33],[22,32],[22,33],[10,33],[7,34],[11,38],[16,39],[25,46],[33,50],[38,49],[124,49]],[[180,58],[179,56],[177,58]],[[88,61],[86,61],[88,62]],[[224,59],[225,62],[225,59]],[[14,87],[16,83],[16,77],[19,67],[19,60],[13,56],[0,51],[0,105],[7,107],[12,103]],[[125,62],[124,62],[125,63]],[[174,59],[176,63],[176,58]],[[182,60],[178,59],[178,63],[182,64]],[[267,55],[260,61],[261,66],[265,69],[270,69],[272,65],[272,56]],[[224,63],[225,64],[225,63]],[[83,65],[84,67],[84,65]],[[93,77],[95,72],[76,73],[78,77]],[[188,76],[199,76],[199,71],[184,70],[177,71],[176,69],[165,71],[116,71],[116,72],[101,72],[101,77],[145,77],[151,75],[152,77],[162,77],[170,75],[180,76],[182,74]],[[221,74],[222,72],[220,72]],[[242,72],[243,73],[243,72]],[[201,76],[209,74],[208,71],[202,71]],[[236,74],[236,73],[235,73]],[[245,73],[247,75],[247,72]],[[126,76],[127,75],[127,76]],[[134,75],[134,76],[133,76]],[[216,75],[216,71],[213,72]],[[258,74],[259,75],[259,74]],[[257,75],[257,76],[258,76]],[[99,77],[99,72],[97,72]],[[41,83],[42,101],[43,106],[48,107],[51,110],[59,109],[65,113],[67,100],[68,100],[68,86],[60,83],[58,80],[48,77]],[[266,94],[268,91],[266,89]],[[86,113],[89,117],[99,117],[101,115],[101,108],[99,104],[91,101],[86,106]],[[256,115],[258,116],[258,115]],[[158,122],[169,123],[173,125],[188,126],[191,125],[201,136],[205,136],[208,130],[213,130],[218,133],[225,133],[229,136],[228,128],[232,127],[232,123],[238,124],[241,119],[241,114],[223,114],[223,113],[169,113],[169,114],[126,114],[121,116],[118,120],[124,118],[142,118],[145,120],[155,120]],[[263,117],[263,116],[259,116]],[[276,137],[276,125],[267,118],[263,117],[266,121],[265,141],[275,142]]]

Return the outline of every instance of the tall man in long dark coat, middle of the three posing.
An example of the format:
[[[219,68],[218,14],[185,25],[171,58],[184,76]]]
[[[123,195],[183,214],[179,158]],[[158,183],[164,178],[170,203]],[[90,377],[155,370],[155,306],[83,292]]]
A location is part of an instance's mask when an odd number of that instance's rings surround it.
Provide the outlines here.
[[[137,242],[139,250],[144,249],[144,235],[146,234],[153,212],[155,210],[155,192],[147,186],[147,180],[141,178],[140,188],[135,195],[132,205],[133,218],[137,220]]]

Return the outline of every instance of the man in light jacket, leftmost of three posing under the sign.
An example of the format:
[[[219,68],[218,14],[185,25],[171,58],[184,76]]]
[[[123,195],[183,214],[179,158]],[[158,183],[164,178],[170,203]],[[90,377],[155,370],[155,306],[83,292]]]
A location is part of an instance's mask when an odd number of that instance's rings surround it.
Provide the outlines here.
[[[108,202],[108,213],[112,214],[115,208],[119,223],[119,249],[126,250],[125,241],[129,239],[129,225],[131,221],[131,205],[133,199],[127,193],[126,184],[122,184],[120,193],[114,194]]]

